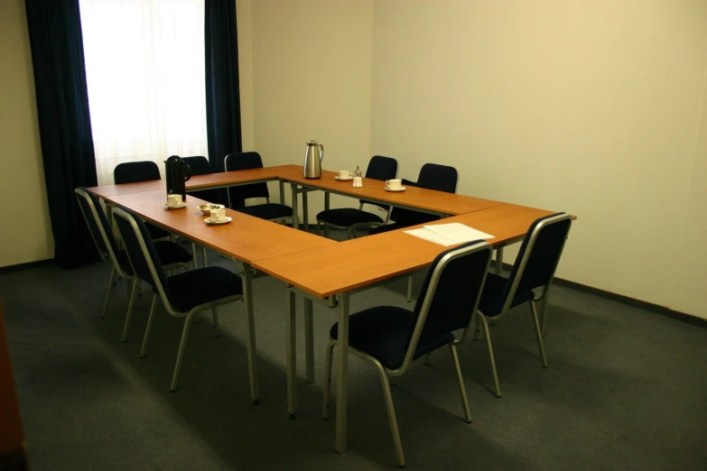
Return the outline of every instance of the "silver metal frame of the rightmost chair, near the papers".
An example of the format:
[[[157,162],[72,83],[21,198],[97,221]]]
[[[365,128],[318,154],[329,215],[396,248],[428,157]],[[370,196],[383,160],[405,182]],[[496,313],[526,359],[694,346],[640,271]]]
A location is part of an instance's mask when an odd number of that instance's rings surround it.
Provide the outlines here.
[[[553,271],[548,279],[548,282],[544,284],[543,286],[539,287],[542,288],[542,292],[539,295],[535,295],[535,297],[532,300],[529,300],[528,302],[530,303],[530,313],[533,318],[533,327],[535,329],[535,340],[537,341],[537,347],[540,355],[540,360],[542,361],[543,368],[547,368],[547,356],[545,356],[545,346],[544,346],[544,340],[543,340],[543,328],[544,328],[544,323],[545,323],[545,309],[547,308],[547,299],[548,299],[548,293],[550,292],[550,286],[553,283],[553,278],[554,278],[554,272],[557,270],[557,265],[560,264],[560,258],[562,258],[563,250],[564,250],[564,245],[567,242],[567,238],[569,237],[570,229],[572,229],[572,215],[569,214],[559,214],[554,217],[547,217],[546,219],[542,220],[540,223],[535,226],[533,229],[533,232],[528,235],[528,243],[526,245],[526,252],[523,254],[523,258],[520,260],[518,263],[518,268],[516,270],[516,277],[513,280],[513,284],[511,284],[510,290],[508,291],[508,295],[506,300],[504,301],[503,308],[501,309],[500,313],[498,316],[493,316],[489,317],[485,315],[483,312],[481,312],[479,309],[474,313],[474,319],[480,319],[480,323],[483,327],[484,330],[484,335],[486,337],[486,343],[488,346],[488,362],[491,366],[491,374],[493,374],[493,383],[494,383],[494,389],[496,397],[501,397],[501,386],[498,383],[498,372],[496,369],[496,359],[493,354],[493,345],[491,343],[491,334],[490,330],[488,328],[488,320],[492,320],[493,322],[496,322],[498,319],[503,319],[507,316],[508,310],[510,309],[511,302],[513,301],[514,297],[516,296],[516,290],[518,287],[518,284],[521,281],[521,278],[523,278],[523,273],[526,271],[526,264],[528,263],[528,260],[530,259],[531,254],[533,254],[533,249],[535,248],[535,241],[537,240],[537,237],[540,235],[540,233],[543,231],[543,229],[547,226],[551,226],[553,224],[559,223],[564,220],[569,220],[570,221],[570,226],[567,229],[567,236],[565,236],[563,240],[563,245],[560,247],[560,252],[557,257],[557,261],[553,267]],[[534,291],[535,292],[535,291]],[[537,309],[538,304],[540,305],[540,309]],[[478,339],[479,337],[479,330],[475,332],[474,335],[475,339]]]

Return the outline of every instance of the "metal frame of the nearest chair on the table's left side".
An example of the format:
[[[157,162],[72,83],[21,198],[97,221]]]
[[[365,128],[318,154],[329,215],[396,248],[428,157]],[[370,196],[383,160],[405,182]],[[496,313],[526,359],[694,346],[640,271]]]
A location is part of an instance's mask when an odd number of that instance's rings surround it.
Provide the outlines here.
[[[153,325],[153,320],[154,320],[154,311],[155,307],[157,304],[157,297],[159,296],[162,301],[163,301],[163,306],[164,309],[167,310],[167,313],[170,314],[172,317],[175,318],[185,318],[184,319],[184,327],[182,328],[181,331],[181,340],[180,340],[180,345],[179,349],[177,351],[177,360],[176,363],[174,364],[174,370],[172,372],[172,383],[170,385],[170,390],[176,391],[177,386],[179,385],[179,375],[181,371],[181,363],[184,358],[184,350],[187,346],[187,337],[189,337],[189,329],[191,326],[191,320],[194,317],[195,314],[202,310],[206,309],[211,309],[211,316],[213,318],[213,326],[216,329],[215,331],[215,337],[219,337],[219,317],[216,308],[225,304],[229,304],[231,302],[237,301],[237,300],[243,300],[243,295],[238,294],[238,295],[232,295],[232,296],[227,296],[225,298],[221,298],[219,300],[213,300],[209,302],[202,303],[198,306],[195,306],[188,312],[181,312],[179,310],[173,309],[172,304],[170,304],[170,301],[168,300],[166,293],[164,292],[164,287],[162,285],[162,282],[160,281],[160,277],[157,273],[157,269],[154,266],[153,259],[150,256],[150,252],[147,249],[147,245],[145,245],[144,242],[144,237],[143,234],[140,232],[140,228],[137,226],[135,223],[135,219],[128,214],[125,210],[121,208],[116,208],[113,211],[113,214],[116,217],[122,217],[126,219],[126,221],[130,224],[130,226],[133,228],[135,231],[135,236],[137,238],[137,241],[140,245],[140,249],[142,250],[142,255],[144,257],[145,262],[147,263],[147,266],[150,270],[150,274],[153,277],[153,282],[154,286],[157,290],[156,293],[153,293],[153,300],[150,306],[150,316],[147,319],[147,327],[144,330],[144,337],[143,337],[143,345],[140,348],[140,357],[144,358],[147,356],[147,344],[148,344],[148,339],[150,337],[150,331],[152,329]],[[130,254],[128,253],[128,258],[130,258]],[[132,261],[131,261],[132,263]],[[135,268],[135,265],[134,265]],[[250,319],[248,319],[248,322],[250,322]],[[248,346],[255,346],[255,333],[252,328],[248,328]],[[251,376],[251,384],[253,383],[253,376],[254,376],[254,371],[252,368],[252,365],[248,365],[248,373]]]

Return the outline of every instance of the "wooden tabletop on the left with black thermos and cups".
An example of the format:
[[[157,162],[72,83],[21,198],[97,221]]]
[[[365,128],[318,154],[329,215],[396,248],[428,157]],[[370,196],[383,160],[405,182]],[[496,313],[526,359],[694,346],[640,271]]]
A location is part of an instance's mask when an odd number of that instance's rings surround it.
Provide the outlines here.
[[[222,226],[204,223],[206,216],[197,206],[207,201],[187,196],[187,208],[166,209],[163,190],[113,195],[106,199],[129,208],[144,219],[246,263],[262,258],[336,245],[336,241],[248,216],[226,208],[233,220]]]

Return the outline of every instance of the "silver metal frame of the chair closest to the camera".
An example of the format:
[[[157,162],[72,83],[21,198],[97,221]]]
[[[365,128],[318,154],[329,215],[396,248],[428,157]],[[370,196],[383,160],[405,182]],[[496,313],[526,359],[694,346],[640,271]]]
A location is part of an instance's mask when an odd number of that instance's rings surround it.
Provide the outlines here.
[[[414,358],[414,353],[415,350],[417,349],[417,344],[418,341],[420,340],[420,336],[423,333],[423,328],[425,321],[427,319],[427,314],[429,313],[430,306],[432,305],[432,301],[434,298],[434,293],[437,290],[437,285],[440,281],[440,278],[442,277],[442,272],[444,271],[445,267],[451,263],[452,261],[466,256],[470,254],[474,254],[476,252],[480,251],[488,251],[488,259],[486,262],[486,267],[484,269],[484,275],[481,279],[481,283],[479,286],[479,292],[477,293],[476,300],[474,300],[473,306],[471,307],[471,312],[469,316],[469,322],[467,323],[467,326],[463,329],[461,335],[459,338],[455,338],[453,342],[448,344],[449,350],[450,350],[450,355],[452,358],[452,361],[454,362],[454,367],[457,372],[457,383],[459,386],[459,392],[460,392],[460,399],[461,399],[461,407],[464,412],[464,420],[467,423],[471,423],[471,412],[469,408],[469,401],[467,398],[467,393],[466,393],[466,387],[464,386],[464,378],[463,375],[461,374],[461,366],[459,362],[459,355],[457,353],[457,346],[463,343],[466,338],[469,335],[470,328],[472,326],[471,319],[473,319],[473,313],[476,312],[477,307],[479,306],[479,300],[481,299],[481,292],[483,290],[483,285],[486,282],[486,276],[488,274],[488,266],[491,261],[491,255],[493,254],[493,247],[488,244],[487,242],[479,242],[478,244],[475,245],[469,245],[465,247],[461,247],[460,249],[452,249],[449,251],[448,254],[445,254],[442,257],[442,260],[440,260],[439,263],[434,267],[434,271],[432,274],[432,277],[430,279],[429,286],[427,288],[427,291],[425,293],[424,299],[423,299],[423,305],[422,308],[420,309],[420,314],[417,318],[417,322],[415,324],[413,336],[411,337],[410,344],[407,347],[407,352],[405,353],[405,360],[403,361],[403,365],[401,365],[399,368],[395,370],[390,370],[386,368],[385,366],[381,365],[381,363],[373,356],[368,355],[365,352],[362,352],[358,350],[357,348],[350,346],[349,345],[349,352],[352,353],[355,356],[358,356],[359,358],[366,360],[368,363],[371,363],[372,365],[375,365],[377,367],[377,371],[380,377],[380,382],[381,386],[383,388],[383,394],[386,400],[386,411],[388,415],[388,421],[390,423],[390,431],[391,434],[393,435],[393,443],[395,446],[395,457],[397,458],[398,461],[398,466],[404,467],[405,466],[405,456],[403,454],[403,444],[400,440],[400,431],[397,426],[397,419],[395,418],[395,406],[393,405],[393,396],[390,393],[390,380],[388,379],[388,376],[401,376],[405,374],[407,371],[408,367],[410,364],[413,362]],[[321,410],[321,417],[323,419],[328,419],[329,418],[329,403],[330,403],[330,384],[331,384],[331,365],[332,365],[332,356],[333,356],[333,351],[334,347],[339,344],[338,340],[330,338],[329,345],[327,345],[327,354],[326,354],[326,365],[324,366],[324,398],[323,398],[323,406]],[[340,353],[340,355],[343,355],[343,353]]]

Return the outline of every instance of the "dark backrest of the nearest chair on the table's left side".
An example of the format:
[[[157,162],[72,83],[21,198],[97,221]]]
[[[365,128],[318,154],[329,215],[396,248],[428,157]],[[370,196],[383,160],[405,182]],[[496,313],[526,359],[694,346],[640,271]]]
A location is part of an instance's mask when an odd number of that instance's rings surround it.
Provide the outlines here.
[[[154,247],[153,239],[147,232],[147,226],[128,208],[115,208],[113,214],[116,216],[116,226],[126,245],[127,256],[135,275],[150,284],[153,291],[162,297],[165,307],[168,307],[169,286],[165,282],[164,269]]]

